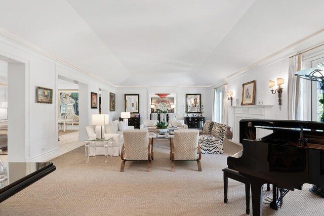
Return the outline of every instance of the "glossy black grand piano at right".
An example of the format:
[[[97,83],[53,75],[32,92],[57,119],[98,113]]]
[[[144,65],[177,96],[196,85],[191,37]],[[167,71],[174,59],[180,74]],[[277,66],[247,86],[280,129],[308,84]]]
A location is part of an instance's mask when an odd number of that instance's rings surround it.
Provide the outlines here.
[[[256,139],[257,128],[273,133]],[[242,119],[239,141],[243,151],[228,157],[227,164],[250,181],[253,215],[262,213],[263,184],[292,191],[304,183],[324,186],[324,123]]]

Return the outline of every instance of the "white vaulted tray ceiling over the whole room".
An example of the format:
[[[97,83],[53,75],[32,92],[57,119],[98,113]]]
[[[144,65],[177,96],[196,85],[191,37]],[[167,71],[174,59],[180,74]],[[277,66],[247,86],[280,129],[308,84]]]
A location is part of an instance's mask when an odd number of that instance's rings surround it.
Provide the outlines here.
[[[114,86],[210,86],[324,28],[322,0],[0,0],[0,28]]]

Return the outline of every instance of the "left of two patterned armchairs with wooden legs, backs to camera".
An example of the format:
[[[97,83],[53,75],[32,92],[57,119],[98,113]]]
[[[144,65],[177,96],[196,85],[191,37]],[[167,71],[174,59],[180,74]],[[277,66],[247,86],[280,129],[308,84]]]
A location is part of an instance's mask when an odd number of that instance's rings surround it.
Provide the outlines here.
[[[121,148],[120,171],[124,171],[127,160],[147,160],[147,171],[151,171],[151,160],[153,160],[153,139],[148,138],[146,129],[126,130],[124,134],[124,145]]]

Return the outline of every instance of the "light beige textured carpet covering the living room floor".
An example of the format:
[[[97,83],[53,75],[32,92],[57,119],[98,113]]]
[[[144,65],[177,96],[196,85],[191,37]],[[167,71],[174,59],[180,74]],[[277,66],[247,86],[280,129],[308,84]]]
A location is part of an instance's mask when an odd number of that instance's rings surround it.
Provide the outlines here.
[[[57,170],[0,204],[1,215],[246,215],[245,187],[229,180],[228,203],[223,202],[223,173],[227,156],[241,147],[225,141],[223,155],[203,155],[202,172],[195,161],[175,163],[171,172],[169,143],[154,144],[152,171],[147,162],[120,157],[90,158],[79,147],[52,161]],[[289,192],[284,207],[263,204],[263,215],[324,215],[324,199],[308,192]],[[271,196],[271,191],[264,197]],[[252,204],[252,202],[251,202]],[[252,208],[252,207],[251,207]]]

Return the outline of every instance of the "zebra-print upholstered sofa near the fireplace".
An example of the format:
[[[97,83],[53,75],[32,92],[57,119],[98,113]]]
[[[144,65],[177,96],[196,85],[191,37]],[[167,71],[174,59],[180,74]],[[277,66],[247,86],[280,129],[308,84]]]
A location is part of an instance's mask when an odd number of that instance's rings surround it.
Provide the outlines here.
[[[199,131],[199,145],[202,154],[223,154],[226,125],[207,120]]]

